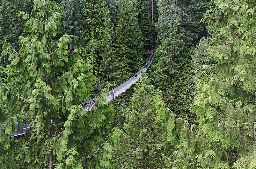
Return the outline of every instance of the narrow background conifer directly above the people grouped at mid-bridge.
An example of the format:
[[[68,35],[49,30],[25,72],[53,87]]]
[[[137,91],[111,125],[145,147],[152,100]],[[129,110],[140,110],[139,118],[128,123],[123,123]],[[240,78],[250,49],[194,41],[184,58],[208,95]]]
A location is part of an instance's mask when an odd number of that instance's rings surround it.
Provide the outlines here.
[[[113,56],[113,24],[106,0],[85,2],[84,49],[99,79],[110,80]],[[100,81],[102,82],[102,81]]]

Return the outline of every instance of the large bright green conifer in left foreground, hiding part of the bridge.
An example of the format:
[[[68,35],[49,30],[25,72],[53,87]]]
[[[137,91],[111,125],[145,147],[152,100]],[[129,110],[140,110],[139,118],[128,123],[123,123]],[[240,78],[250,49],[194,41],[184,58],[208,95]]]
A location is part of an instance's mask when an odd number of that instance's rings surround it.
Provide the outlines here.
[[[81,100],[90,97],[95,80],[92,66],[81,59],[79,49],[67,53],[72,36],[57,38],[58,5],[35,0],[33,10],[35,16],[19,12],[28,19],[28,35],[19,37],[20,51],[2,37],[3,54],[11,64],[0,79],[1,168],[109,167],[111,144],[118,141],[119,130],[106,130],[113,111],[104,100],[106,94],[92,111],[83,111]],[[12,137],[25,125],[30,130],[23,137]]]

